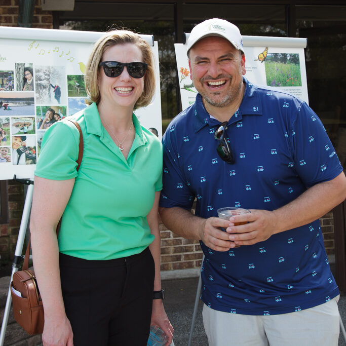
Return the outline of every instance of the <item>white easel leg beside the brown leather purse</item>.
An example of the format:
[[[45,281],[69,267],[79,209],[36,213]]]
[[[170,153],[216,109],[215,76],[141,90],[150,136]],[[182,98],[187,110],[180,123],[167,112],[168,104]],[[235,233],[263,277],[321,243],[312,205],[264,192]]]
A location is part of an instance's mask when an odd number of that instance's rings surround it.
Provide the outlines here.
[[[22,259],[22,251],[23,251],[23,244],[24,244],[24,239],[25,239],[25,234],[26,234],[26,227],[28,224],[30,210],[31,210],[32,192],[33,192],[33,184],[30,183],[28,186],[28,189],[27,189],[27,193],[26,193],[23,215],[22,215],[22,220],[20,222],[17,245],[16,245],[14,260],[13,260],[13,264],[12,264],[12,274],[11,274],[11,280],[10,280],[10,287],[9,287],[9,291],[7,293],[7,300],[6,300],[6,305],[5,305],[3,324],[1,327],[1,333],[0,333],[0,346],[4,345],[6,328],[7,328],[7,323],[9,320],[9,315],[10,315],[10,310],[11,310],[11,302],[12,302],[11,281],[12,281],[12,276],[15,272],[18,272],[18,269],[20,268],[20,261]]]

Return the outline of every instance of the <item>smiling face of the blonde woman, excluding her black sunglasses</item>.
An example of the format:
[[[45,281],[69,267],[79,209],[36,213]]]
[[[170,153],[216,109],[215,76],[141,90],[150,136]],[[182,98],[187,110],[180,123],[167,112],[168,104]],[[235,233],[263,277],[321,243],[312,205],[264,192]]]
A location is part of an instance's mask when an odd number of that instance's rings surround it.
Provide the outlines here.
[[[131,43],[114,45],[103,53],[101,61],[142,62],[142,53]],[[100,105],[106,107],[111,107],[115,103],[133,109],[144,88],[144,77],[132,78],[127,67],[124,67],[121,75],[115,78],[107,77],[103,68],[99,67],[97,81],[101,95]]]

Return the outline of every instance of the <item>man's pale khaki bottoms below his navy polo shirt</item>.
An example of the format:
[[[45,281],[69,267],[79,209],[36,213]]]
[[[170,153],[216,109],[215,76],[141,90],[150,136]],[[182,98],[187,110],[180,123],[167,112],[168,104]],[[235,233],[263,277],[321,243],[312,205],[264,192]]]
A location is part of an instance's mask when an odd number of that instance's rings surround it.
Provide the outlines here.
[[[229,314],[203,306],[209,346],[336,346],[339,295],[295,313],[252,316]]]

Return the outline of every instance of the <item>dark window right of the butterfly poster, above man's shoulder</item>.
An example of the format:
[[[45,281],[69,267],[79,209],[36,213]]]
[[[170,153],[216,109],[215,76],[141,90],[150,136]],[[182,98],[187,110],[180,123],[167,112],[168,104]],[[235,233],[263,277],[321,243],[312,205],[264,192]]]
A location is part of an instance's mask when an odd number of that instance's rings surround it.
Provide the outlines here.
[[[346,167],[346,6],[297,6],[296,29],[307,37],[309,105]]]

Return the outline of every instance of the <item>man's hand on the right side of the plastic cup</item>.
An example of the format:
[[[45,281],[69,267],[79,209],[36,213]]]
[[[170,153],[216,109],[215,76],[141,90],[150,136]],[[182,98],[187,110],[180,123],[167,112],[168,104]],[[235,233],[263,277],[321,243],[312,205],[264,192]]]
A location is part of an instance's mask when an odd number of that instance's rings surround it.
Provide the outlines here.
[[[236,215],[229,219],[230,226],[226,228],[229,240],[237,245],[253,245],[281,232],[278,229],[275,211],[253,209],[250,211],[250,214]],[[238,222],[249,223],[235,226]]]

